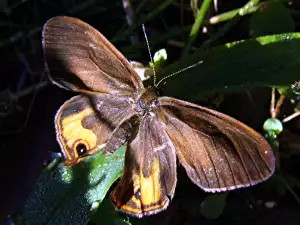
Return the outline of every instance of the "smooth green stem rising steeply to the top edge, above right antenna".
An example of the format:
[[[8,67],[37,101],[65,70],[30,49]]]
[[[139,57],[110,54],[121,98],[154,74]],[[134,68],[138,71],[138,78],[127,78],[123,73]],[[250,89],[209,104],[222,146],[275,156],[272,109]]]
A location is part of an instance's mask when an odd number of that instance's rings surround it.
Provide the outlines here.
[[[210,6],[210,3],[211,3],[211,0],[204,0],[203,1],[200,10],[197,13],[196,20],[195,20],[195,22],[193,24],[193,27],[191,29],[191,32],[190,32],[188,43],[187,43],[185,49],[183,50],[181,58],[185,57],[188,54],[188,52],[190,51],[190,48],[193,45],[193,43],[194,43],[194,41],[195,41],[195,39],[198,35],[199,29],[203,25],[204,17],[206,15],[206,12],[207,12],[209,6]]]

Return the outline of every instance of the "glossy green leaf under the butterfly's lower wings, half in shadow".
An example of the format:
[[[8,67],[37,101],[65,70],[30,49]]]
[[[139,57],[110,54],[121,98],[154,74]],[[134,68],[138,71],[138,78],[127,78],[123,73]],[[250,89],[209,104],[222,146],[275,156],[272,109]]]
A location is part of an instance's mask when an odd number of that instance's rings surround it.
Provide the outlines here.
[[[101,152],[70,168],[62,163],[45,170],[27,199],[24,224],[86,224],[91,205],[101,202],[122,175],[125,147],[104,157]]]

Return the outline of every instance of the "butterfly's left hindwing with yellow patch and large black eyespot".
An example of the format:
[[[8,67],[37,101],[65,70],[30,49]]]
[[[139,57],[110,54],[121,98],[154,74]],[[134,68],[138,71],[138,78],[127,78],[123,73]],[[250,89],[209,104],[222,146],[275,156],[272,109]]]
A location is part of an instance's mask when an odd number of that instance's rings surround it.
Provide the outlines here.
[[[66,165],[78,163],[103,147],[104,153],[109,153],[124,144],[135,114],[130,104],[127,97],[98,94],[82,94],[66,101],[55,116],[56,137]]]

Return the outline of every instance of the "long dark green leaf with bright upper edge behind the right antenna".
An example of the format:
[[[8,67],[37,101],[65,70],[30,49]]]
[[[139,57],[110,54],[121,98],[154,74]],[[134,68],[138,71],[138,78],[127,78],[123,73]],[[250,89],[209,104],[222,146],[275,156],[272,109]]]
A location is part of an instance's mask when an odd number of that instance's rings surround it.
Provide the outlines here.
[[[203,60],[167,80],[165,94],[198,100],[205,93],[242,91],[259,86],[289,86],[300,79],[300,33],[229,43],[180,60],[160,77]],[[159,80],[159,79],[158,79]]]

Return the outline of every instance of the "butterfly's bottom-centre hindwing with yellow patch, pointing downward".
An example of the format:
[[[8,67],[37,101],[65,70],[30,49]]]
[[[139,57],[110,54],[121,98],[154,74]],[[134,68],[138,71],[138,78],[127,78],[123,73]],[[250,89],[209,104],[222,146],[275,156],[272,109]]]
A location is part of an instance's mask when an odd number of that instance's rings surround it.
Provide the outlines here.
[[[142,217],[164,210],[176,186],[176,154],[174,146],[157,116],[142,119],[129,141],[124,174],[113,190],[116,208]]]

